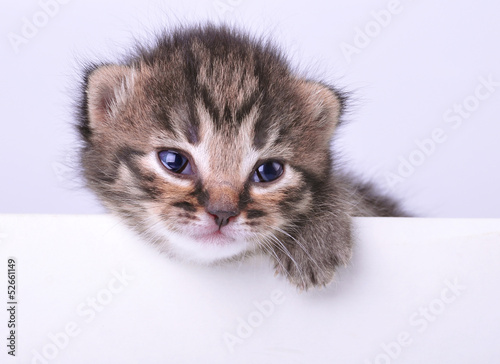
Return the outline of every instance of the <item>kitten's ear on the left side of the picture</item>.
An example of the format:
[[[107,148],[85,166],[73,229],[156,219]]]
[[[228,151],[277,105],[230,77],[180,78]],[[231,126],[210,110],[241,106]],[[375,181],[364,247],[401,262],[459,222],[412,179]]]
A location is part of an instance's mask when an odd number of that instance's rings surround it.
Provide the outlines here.
[[[105,65],[93,70],[86,85],[89,126],[99,129],[113,119],[134,87],[134,70]]]

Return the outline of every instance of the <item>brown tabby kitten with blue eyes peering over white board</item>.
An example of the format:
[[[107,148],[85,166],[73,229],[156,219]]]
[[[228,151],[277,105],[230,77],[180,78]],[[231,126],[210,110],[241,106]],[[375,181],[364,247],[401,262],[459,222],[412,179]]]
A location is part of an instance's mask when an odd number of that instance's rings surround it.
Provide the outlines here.
[[[88,68],[79,112],[88,186],[172,257],[267,253],[301,289],[351,256],[352,216],[402,215],[333,171],[344,97],[280,52],[213,25]]]

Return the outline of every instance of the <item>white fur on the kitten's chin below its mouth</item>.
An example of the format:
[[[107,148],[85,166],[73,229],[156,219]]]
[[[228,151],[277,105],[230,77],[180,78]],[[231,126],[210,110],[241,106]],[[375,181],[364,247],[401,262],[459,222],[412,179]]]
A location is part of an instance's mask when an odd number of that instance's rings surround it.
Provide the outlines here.
[[[162,250],[176,258],[202,264],[212,264],[221,260],[234,258],[243,254],[250,248],[245,241],[231,241],[224,244],[215,244],[198,241],[189,236],[163,231],[168,239],[162,246]]]

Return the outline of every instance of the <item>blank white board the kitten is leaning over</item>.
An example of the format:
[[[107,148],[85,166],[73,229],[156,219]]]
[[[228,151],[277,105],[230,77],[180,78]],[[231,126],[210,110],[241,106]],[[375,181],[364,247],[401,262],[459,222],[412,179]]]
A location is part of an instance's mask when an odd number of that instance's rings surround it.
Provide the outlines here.
[[[17,279],[16,356],[2,309],[0,362],[500,362],[500,220],[355,227],[351,265],[300,293],[267,257],[173,262],[108,215],[0,215]]]

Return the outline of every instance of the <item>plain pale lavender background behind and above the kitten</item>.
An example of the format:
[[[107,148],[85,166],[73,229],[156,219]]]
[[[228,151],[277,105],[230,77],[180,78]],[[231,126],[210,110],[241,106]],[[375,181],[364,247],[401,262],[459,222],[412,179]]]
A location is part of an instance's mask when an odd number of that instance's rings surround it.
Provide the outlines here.
[[[43,3],[52,5],[42,10]],[[72,171],[79,62],[114,60],[134,37],[212,19],[271,35],[303,74],[352,91],[350,124],[337,140],[346,167],[423,216],[500,217],[500,85],[481,89],[483,100],[472,104],[481,77],[500,82],[500,7],[492,0],[391,3],[73,0],[56,8],[3,1],[0,213],[103,212]],[[377,26],[374,12],[388,8],[396,13]],[[40,26],[16,51],[9,38],[24,36],[26,19]],[[348,60],[342,46],[355,45],[358,29],[372,36]],[[443,115],[464,100],[474,110],[453,128]],[[439,130],[442,142],[418,159],[415,141]],[[391,187],[388,174],[410,156],[420,164]]]

